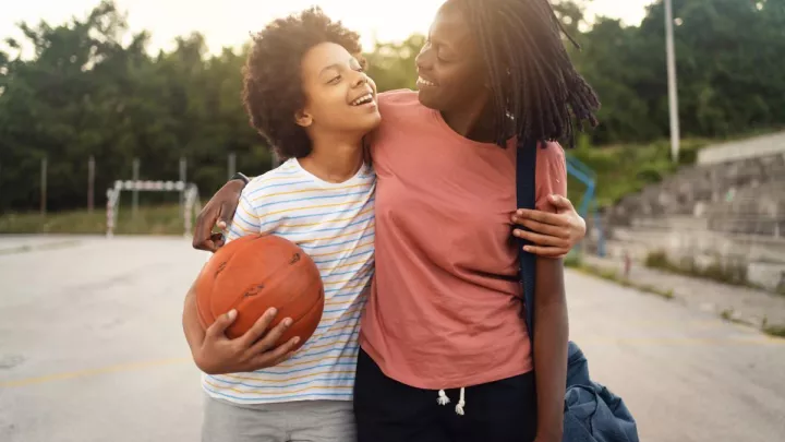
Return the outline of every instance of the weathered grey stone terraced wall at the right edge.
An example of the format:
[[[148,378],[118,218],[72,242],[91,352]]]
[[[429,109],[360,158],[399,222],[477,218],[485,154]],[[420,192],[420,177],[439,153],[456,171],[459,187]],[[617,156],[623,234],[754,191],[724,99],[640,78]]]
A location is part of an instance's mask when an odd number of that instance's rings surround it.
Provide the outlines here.
[[[738,271],[749,283],[785,290],[785,133],[699,155],[700,164],[602,215],[606,254],[644,261],[661,252],[674,263]],[[589,251],[597,238],[592,231]]]

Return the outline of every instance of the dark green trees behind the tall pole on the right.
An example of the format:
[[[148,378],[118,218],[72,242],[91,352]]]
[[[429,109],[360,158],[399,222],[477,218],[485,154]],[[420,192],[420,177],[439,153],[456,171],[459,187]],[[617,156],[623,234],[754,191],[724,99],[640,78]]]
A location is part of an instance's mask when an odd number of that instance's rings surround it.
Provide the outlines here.
[[[727,138],[782,126],[785,0],[674,0],[673,8],[681,23],[674,38],[683,135]],[[640,26],[601,17],[577,35],[582,50],[573,60],[603,101],[595,143],[669,133],[664,16],[660,0]]]

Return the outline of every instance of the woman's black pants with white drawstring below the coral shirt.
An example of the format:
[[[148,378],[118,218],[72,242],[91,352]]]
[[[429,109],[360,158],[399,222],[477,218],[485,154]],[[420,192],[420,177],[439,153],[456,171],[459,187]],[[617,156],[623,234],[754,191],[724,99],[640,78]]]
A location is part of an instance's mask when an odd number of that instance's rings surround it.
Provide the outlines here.
[[[536,433],[532,373],[466,389],[464,415],[456,413],[459,390],[438,392],[387,378],[360,351],[354,383],[358,442],[530,442]]]

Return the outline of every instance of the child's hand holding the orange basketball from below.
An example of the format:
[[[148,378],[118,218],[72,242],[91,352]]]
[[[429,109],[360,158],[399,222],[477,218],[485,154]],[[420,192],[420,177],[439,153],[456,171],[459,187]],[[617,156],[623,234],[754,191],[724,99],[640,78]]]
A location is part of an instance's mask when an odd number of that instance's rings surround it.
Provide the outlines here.
[[[275,309],[267,310],[244,335],[230,339],[226,330],[237,319],[237,311],[221,314],[205,332],[202,345],[193,351],[196,367],[207,374],[245,373],[285,361],[300,337],[292,337],[276,347],[292,320],[287,318],[268,332],[275,316]]]

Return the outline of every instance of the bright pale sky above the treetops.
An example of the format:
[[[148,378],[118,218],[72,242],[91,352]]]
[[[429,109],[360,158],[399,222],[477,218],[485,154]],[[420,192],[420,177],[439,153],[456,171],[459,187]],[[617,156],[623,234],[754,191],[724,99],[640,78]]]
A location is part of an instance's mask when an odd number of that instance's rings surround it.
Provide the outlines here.
[[[637,25],[653,0],[593,0],[591,15],[607,15]],[[375,39],[401,40],[412,33],[426,33],[444,0],[116,0],[128,14],[131,31],[152,33],[149,49],[170,49],[174,37],[194,31],[204,34],[209,50],[239,47],[249,34],[271,19],[317,4],[333,19],[358,31],[363,47]],[[99,0],[7,0],[0,15],[0,40],[20,37],[16,23],[45,20],[62,24],[72,16],[85,17]],[[218,5],[220,4],[220,7]],[[373,10],[373,11],[372,11]]]

